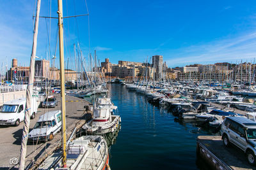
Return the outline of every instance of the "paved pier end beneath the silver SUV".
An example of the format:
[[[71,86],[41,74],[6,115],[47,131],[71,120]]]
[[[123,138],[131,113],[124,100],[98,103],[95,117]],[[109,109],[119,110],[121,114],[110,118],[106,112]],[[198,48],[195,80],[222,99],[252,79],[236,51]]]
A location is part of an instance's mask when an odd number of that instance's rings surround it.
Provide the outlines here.
[[[197,153],[212,169],[256,169],[248,164],[242,150],[234,145],[225,147],[221,136],[198,136]]]

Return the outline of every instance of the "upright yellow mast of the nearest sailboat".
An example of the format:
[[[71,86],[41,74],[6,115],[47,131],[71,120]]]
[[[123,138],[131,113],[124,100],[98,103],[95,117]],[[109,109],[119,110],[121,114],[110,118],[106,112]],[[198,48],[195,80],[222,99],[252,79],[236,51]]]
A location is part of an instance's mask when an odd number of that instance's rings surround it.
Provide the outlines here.
[[[66,105],[65,105],[65,73],[64,73],[64,48],[63,48],[63,10],[62,1],[58,0],[58,15],[59,15],[59,46],[60,46],[60,88],[61,88],[61,116],[62,116],[62,163],[66,167]]]

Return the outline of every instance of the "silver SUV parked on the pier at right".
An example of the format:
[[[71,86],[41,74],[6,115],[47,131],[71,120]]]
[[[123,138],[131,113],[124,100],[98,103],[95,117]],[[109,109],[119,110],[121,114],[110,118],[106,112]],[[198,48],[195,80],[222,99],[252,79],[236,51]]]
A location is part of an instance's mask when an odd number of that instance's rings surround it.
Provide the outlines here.
[[[256,122],[244,117],[227,117],[220,131],[225,146],[236,145],[246,153],[249,164],[256,164]]]

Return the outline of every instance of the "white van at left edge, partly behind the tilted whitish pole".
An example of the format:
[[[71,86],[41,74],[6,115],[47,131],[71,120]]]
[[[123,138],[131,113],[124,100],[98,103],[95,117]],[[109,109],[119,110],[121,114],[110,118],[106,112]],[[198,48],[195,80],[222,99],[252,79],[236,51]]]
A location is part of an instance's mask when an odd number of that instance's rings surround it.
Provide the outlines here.
[[[0,125],[18,126],[25,117],[26,97],[8,101],[3,104],[0,110]],[[31,97],[31,119],[35,118],[37,104],[35,97]]]

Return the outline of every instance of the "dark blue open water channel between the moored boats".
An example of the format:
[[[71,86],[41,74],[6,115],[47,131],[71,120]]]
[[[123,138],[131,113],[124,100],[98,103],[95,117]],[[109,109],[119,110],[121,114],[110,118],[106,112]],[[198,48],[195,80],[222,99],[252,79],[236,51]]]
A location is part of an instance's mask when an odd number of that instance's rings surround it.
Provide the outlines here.
[[[122,118],[110,148],[111,169],[202,169],[196,164],[196,137],[211,132],[180,122],[120,84],[109,85],[109,93]]]

